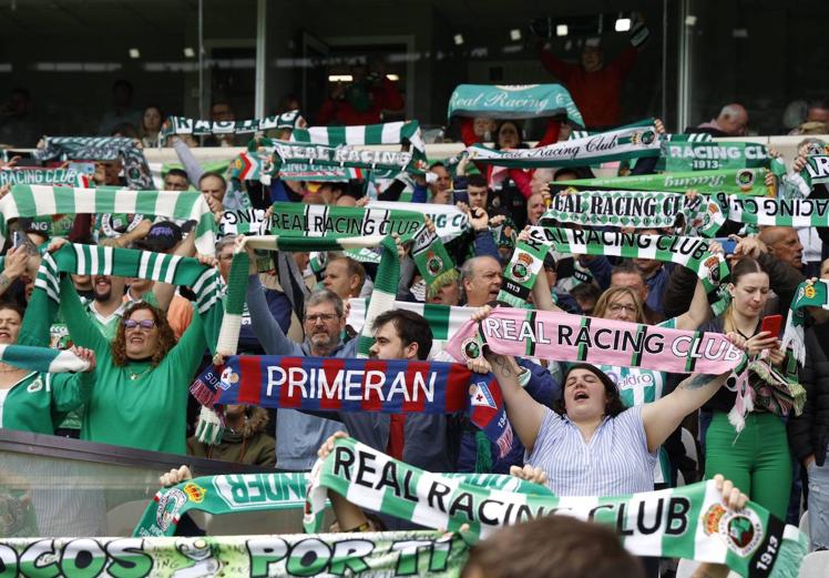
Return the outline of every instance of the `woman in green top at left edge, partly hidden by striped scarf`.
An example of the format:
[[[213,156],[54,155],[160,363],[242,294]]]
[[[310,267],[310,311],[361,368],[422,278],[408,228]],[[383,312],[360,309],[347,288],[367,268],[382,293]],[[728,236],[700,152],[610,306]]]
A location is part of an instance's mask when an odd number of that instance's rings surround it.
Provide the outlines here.
[[[14,304],[0,304],[0,344],[18,343],[22,310]],[[35,434],[54,434],[66,412],[89,399],[95,383],[95,353],[72,347],[90,368],[79,374],[50,374],[21,369],[0,363],[0,427]]]

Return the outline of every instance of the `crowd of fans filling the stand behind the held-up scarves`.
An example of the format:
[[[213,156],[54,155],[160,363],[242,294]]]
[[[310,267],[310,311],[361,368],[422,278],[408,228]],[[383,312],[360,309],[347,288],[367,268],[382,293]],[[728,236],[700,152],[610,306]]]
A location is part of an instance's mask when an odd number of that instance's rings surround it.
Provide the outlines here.
[[[572,82],[590,87],[617,84],[635,59],[635,51],[625,54],[622,57],[625,60],[608,71],[603,69],[601,51],[586,52],[583,67],[577,70],[565,70],[549,54],[544,63],[565,80],[572,78]],[[592,73],[602,70],[604,80],[590,80]],[[357,74],[362,82],[366,71]],[[360,85],[361,89],[351,92],[338,88],[318,118],[331,123],[367,124],[379,121],[382,110],[402,109],[399,93],[385,79],[368,89]],[[129,83],[114,87],[114,108],[102,119],[99,133],[131,136],[145,148],[156,146],[164,114],[153,105],[134,110],[131,97]],[[28,97],[18,91],[12,98],[18,102]],[[367,114],[369,109],[377,109],[377,114]],[[591,101],[589,109],[596,115],[597,124],[618,120],[616,105],[602,111],[601,102]],[[819,104],[812,107],[809,119],[819,118],[821,110],[825,109]],[[215,102],[211,112],[214,121],[234,119],[225,102]],[[806,121],[821,122],[809,119]],[[689,130],[741,135],[748,122],[743,107],[728,104],[716,119]],[[14,126],[18,132],[12,130]],[[564,140],[566,129],[557,120],[551,121],[538,145]],[[4,122],[0,131],[10,144],[25,144],[30,140],[22,121]],[[461,135],[465,144],[491,136],[499,150],[528,146],[521,123],[515,120],[468,119],[462,123]],[[216,135],[201,144],[240,144],[238,139],[233,134]],[[195,139],[173,138],[164,144],[175,148],[182,169],[166,171],[162,187],[201,191],[219,221],[231,204],[226,179],[198,165],[191,152],[197,145]],[[125,184],[120,161],[98,161],[95,186]],[[21,161],[3,163],[3,168],[11,169],[18,163]],[[468,216],[470,226],[448,244],[458,263],[458,274],[427,286],[413,267],[403,263],[401,270],[409,274],[401,280],[399,301],[470,307],[475,310],[475,320],[485,318],[493,305],[500,306],[493,302],[502,285],[503,267],[521,239],[520,232],[525,225],[536,224],[550,204],[554,194],[551,183],[591,175],[586,166],[508,172],[505,180],[495,183],[491,166],[475,168],[463,156],[457,164],[433,162],[426,176],[415,178],[413,200],[423,202],[424,207],[456,204]],[[269,204],[277,190],[296,203],[361,206],[367,201],[362,186],[355,182],[275,180],[263,189],[252,190],[250,195],[254,205],[262,207]],[[396,201],[399,191],[392,183],[379,192],[379,199]],[[7,186],[3,193],[8,192]],[[52,346],[71,344],[79,356],[92,364],[86,373],[52,378],[0,364],[2,427],[186,453],[283,471],[309,470],[320,446],[325,447],[335,433],[347,430],[376,449],[432,471],[513,470],[525,476],[524,466],[531,465],[538,469],[530,477],[539,479],[543,475],[559,496],[632,494],[675,486],[680,479],[690,481],[723,474],[780,518],[797,520],[802,499],[801,478],[808,479],[802,489],[808,487],[812,509],[820,511],[826,507],[829,339],[825,334],[829,325],[815,324],[806,333],[806,365],[799,379],[808,398],[802,415],[780,415],[757,406],[739,435],[727,417],[735,396],[720,388],[727,375],[704,377],[700,385],[699,376],[590,364],[565,366],[488,353],[485,359],[470,362],[470,366],[479,372],[492,371],[501,385],[508,417],[516,433],[505,457],[499,458],[491,444],[482,444],[480,433],[461,415],[327,413],[323,416],[254,406],[227,407],[227,433],[218,445],[212,446],[192,435],[195,404],[188,402],[188,386],[209,359],[202,329],[205,321],[191,302],[192,294],[186,287],[176,290],[167,284],[109,275],[65,275],[60,280],[59,315],[50,308],[47,295],[37,291],[42,253],[60,250],[66,242],[195,255],[195,235],[188,233],[186,224],[134,221],[133,215],[124,215],[120,221],[112,215],[110,223],[114,226],[109,229],[102,227],[102,215],[78,216],[64,227],[64,235],[58,234],[57,227],[44,231],[37,226],[37,221],[21,219],[18,223],[21,237],[9,241],[4,270],[0,273],[0,344],[37,344],[35,337],[49,331]],[[749,355],[767,352],[770,363],[782,367],[787,352],[781,348],[779,335],[761,331],[761,320],[774,313],[785,316],[795,290],[807,274],[829,278],[829,260],[819,263],[819,257],[812,258],[811,264],[804,260],[801,239],[817,243],[808,249],[825,256],[820,237],[808,233],[798,236],[798,233],[791,227],[774,226],[764,227],[756,236],[733,236],[736,246],[728,255],[727,284],[731,302],[719,316],[712,315],[694,272],[649,258],[550,255],[544,261],[544,274],[539,275],[533,287],[533,306],[724,333]],[[199,255],[204,264],[218,268],[225,283],[236,243],[232,235],[226,235],[216,245],[215,258]],[[260,274],[254,265],[247,285],[239,353],[355,357],[356,332],[347,324],[349,300],[371,296],[377,266],[347,254],[331,253],[325,260],[325,267],[315,274],[308,254],[291,256],[310,290],[301,315],[294,311],[274,272]],[[410,260],[408,254],[403,257],[403,262]],[[256,255],[252,254],[250,261],[255,263]],[[807,271],[808,266],[813,271]],[[387,311],[376,318],[372,328],[376,342],[371,356],[376,358],[427,359],[432,349],[432,328],[417,313]],[[750,379],[763,387],[761,376],[753,374]],[[50,385],[33,386],[40,381]],[[688,387],[694,381],[695,386]],[[682,443],[683,425],[696,435],[704,454],[698,463],[689,460],[687,445]],[[528,533],[528,539],[535,535]],[[829,525],[819,516],[813,518],[811,538],[815,547],[829,547]],[[479,567],[489,567],[490,559],[498,557],[492,558],[484,550],[473,558]],[[469,575],[478,576],[480,571],[470,570]]]

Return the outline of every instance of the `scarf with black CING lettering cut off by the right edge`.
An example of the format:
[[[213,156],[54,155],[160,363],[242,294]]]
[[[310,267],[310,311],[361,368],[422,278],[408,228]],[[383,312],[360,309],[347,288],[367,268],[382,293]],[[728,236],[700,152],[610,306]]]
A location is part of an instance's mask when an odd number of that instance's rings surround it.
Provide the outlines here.
[[[719,196],[728,220],[750,225],[829,226],[829,199]]]

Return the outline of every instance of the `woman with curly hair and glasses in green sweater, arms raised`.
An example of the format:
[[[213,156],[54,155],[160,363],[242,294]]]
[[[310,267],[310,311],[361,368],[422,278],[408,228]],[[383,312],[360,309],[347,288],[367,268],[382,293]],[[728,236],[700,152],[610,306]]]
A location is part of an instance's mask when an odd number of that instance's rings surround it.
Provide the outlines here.
[[[198,312],[176,344],[166,315],[135,303],[110,344],[68,275],[60,308],[73,342],[98,352],[99,387],[86,404],[81,439],[185,454],[188,386],[207,346]]]

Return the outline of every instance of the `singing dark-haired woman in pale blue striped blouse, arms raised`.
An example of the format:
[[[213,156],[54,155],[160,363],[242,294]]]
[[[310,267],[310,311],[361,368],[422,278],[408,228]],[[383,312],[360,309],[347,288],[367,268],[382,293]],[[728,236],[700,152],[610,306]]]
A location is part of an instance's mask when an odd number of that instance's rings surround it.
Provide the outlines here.
[[[481,320],[490,307],[473,316]],[[501,385],[506,416],[526,448],[526,463],[547,475],[557,496],[614,496],[653,490],[656,449],[726,382],[729,373],[695,374],[665,397],[625,408],[616,385],[590,364],[575,364],[564,376],[555,412],[519,385],[523,372],[511,356],[487,352],[469,362],[492,371]]]

